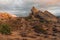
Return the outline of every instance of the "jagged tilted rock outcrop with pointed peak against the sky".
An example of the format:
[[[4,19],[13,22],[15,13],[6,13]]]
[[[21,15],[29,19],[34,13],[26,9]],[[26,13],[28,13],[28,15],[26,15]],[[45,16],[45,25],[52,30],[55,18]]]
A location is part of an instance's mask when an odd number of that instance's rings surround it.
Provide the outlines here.
[[[42,12],[42,11],[36,9],[35,7],[33,7],[31,12],[32,12],[31,14],[33,14],[32,16],[35,16],[35,17],[38,16],[39,18],[43,18],[47,21],[53,21],[53,22],[58,21],[57,17],[48,11]]]

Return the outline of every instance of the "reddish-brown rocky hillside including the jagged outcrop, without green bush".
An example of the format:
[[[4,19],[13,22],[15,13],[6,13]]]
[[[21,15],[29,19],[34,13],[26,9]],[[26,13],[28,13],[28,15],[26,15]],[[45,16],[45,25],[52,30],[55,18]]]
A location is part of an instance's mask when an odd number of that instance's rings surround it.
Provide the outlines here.
[[[32,7],[28,17],[7,19],[1,23],[8,24],[12,34],[0,34],[0,40],[60,40],[60,19],[48,11]]]

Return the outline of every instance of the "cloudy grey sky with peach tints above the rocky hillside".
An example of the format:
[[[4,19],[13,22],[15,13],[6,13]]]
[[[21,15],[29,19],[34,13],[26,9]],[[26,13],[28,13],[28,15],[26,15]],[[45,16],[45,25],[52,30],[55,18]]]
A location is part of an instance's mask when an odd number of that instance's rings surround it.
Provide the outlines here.
[[[60,0],[0,0],[0,12],[20,16],[28,15],[33,6],[60,16]]]

